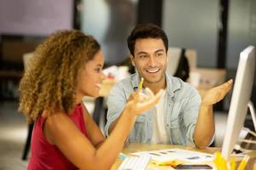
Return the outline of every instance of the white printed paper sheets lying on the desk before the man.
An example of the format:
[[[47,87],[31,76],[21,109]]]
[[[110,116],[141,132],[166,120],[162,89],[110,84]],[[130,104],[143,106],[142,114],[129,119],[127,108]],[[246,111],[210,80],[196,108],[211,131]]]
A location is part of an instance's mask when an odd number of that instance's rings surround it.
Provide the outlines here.
[[[212,161],[214,156],[198,151],[182,150],[182,149],[166,149],[166,150],[150,150],[140,151],[131,153],[133,156],[151,156],[151,159],[157,162],[165,161],[190,161],[190,162],[201,162],[201,161]]]

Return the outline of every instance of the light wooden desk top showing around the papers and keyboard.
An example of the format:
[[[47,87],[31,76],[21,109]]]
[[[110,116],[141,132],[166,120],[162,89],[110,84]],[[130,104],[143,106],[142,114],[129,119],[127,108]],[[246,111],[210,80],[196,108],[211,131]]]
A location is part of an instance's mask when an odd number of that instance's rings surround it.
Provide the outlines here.
[[[137,152],[137,151],[146,151],[146,150],[164,150],[164,149],[168,149],[168,148],[179,148],[179,149],[183,149],[183,150],[193,150],[193,151],[201,151],[201,152],[205,152],[205,153],[210,153],[213,154],[216,151],[220,151],[220,148],[213,148],[213,147],[209,147],[206,148],[204,150],[199,150],[199,149],[195,149],[193,147],[189,147],[189,146],[178,146],[178,145],[171,145],[171,144],[125,144],[124,149],[122,150],[122,152],[126,155],[130,155],[133,152]],[[256,156],[256,152],[253,152],[251,154],[248,154],[251,157],[255,157]],[[121,164],[121,160],[117,159],[113,166],[111,167],[111,170],[116,170],[118,169],[119,165]],[[206,163],[212,167],[215,167],[212,161],[206,161],[203,162]],[[250,159],[250,161],[247,163],[247,167],[246,169],[255,169],[256,170],[256,161],[255,159]],[[254,167],[253,167],[254,165]],[[149,170],[157,170],[157,169],[163,169],[163,170],[167,170],[167,169],[174,169],[172,167],[163,167],[163,166],[156,166],[154,164],[148,164],[147,169]],[[214,168],[213,168],[214,169]]]

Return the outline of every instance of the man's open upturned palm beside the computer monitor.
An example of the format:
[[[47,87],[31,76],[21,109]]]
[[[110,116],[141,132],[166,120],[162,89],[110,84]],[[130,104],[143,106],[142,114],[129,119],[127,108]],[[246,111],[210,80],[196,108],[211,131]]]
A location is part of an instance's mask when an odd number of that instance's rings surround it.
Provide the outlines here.
[[[201,105],[214,105],[218,103],[218,101],[224,99],[224,96],[230,91],[232,88],[233,80],[229,80],[228,82],[224,82],[222,85],[211,88],[207,91],[207,93],[203,96]]]

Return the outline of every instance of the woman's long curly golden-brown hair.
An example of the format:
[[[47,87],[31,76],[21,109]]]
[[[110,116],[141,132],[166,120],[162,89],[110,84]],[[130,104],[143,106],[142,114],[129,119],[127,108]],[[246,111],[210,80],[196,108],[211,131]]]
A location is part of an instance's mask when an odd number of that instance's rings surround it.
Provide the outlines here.
[[[99,50],[94,37],[76,30],[56,31],[42,42],[20,80],[19,110],[27,121],[36,121],[43,111],[72,111],[78,73]]]

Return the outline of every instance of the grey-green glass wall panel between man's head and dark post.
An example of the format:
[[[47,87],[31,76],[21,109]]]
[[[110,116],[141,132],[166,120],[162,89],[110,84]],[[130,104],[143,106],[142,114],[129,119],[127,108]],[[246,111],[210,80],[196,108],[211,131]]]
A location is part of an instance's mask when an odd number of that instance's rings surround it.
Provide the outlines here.
[[[197,66],[217,66],[217,0],[164,0],[162,24],[170,46],[195,48]]]

